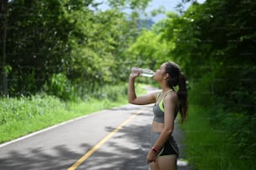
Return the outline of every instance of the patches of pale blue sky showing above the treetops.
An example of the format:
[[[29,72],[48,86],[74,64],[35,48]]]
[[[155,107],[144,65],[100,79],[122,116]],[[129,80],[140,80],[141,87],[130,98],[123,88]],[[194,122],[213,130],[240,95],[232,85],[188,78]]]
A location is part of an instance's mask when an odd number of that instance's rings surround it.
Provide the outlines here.
[[[105,2],[105,0],[96,0],[96,2]],[[146,8],[146,13],[150,15],[150,12],[153,9],[156,9],[159,7],[161,8],[164,7],[167,12],[169,11],[177,12],[175,7],[177,6],[178,2],[181,2],[181,0],[151,0],[151,2],[148,4],[148,7]],[[197,2],[202,3],[202,2],[205,2],[205,0],[197,0]],[[189,5],[190,3],[187,3],[185,8],[189,7]],[[100,5],[100,8],[105,10],[108,8],[108,6],[106,4],[103,4],[103,5]],[[165,15],[159,14],[159,15],[156,15],[156,17],[152,18],[152,20],[156,22],[162,18],[165,18]]]

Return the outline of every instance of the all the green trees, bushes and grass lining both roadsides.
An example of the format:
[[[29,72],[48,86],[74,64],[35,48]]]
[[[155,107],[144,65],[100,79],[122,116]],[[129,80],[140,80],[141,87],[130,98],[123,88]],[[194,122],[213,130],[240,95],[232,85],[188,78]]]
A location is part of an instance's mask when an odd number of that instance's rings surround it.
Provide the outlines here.
[[[256,169],[255,1],[181,0],[153,24],[140,18],[150,0],[107,2],[0,2],[1,143],[121,105],[131,67],[173,61],[187,77],[190,163]]]

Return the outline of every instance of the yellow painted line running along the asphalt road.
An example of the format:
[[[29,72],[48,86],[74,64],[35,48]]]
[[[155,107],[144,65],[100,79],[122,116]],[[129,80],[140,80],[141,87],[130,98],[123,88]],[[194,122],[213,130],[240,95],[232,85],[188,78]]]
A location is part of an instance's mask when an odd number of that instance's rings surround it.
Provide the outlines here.
[[[79,160],[77,162],[75,162],[70,168],[68,168],[68,170],[74,170],[76,168],[79,167],[79,165],[81,163],[84,163],[84,161],[90,157],[90,155],[92,155],[93,153],[95,153],[95,151],[100,148],[104,143],[106,143],[110,138],[112,138],[114,136],[115,133],[117,133],[118,131],[120,131],[121,128],[123,128],[125,126],[125,124],[127,124],[128,122],[130,122],[134,117],[136,117],[139,113],[141,113],[145,108],[142,108],[141,110],[139,110],[138,112],[136,112],[135,114],[133,114],[131,117],[129,117],[128,119],[125,120],[125,122],[122,122],[119,127],[115,128],[111,133],[109,133],[105,138],[103,138],[99,143],[95,144],[95,146],[93,148],[90,149],[90,151],[88,151],[87,153],[84,154],[83,157],[79,158]]]

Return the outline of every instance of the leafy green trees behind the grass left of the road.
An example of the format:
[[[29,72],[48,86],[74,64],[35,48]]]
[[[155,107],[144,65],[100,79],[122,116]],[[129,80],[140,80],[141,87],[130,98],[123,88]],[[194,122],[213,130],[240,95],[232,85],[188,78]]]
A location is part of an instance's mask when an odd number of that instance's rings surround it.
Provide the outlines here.
[[[134,11],[147,4],[147,0],[122,2]],[[7,13],[1,13],[8,20],[8,36],[7,47],[0,48],[1,55],[2,50],[7,53],[0,71],[5,73],[2,67],[8,66],[9,96],[34,94],[59,73],[87,92],[126,79],[123,63],[129,59],[123,52],[138,35],[138,17],[129,18],[118,8],[101,11],[99,4],[93,0],[8,2]]]

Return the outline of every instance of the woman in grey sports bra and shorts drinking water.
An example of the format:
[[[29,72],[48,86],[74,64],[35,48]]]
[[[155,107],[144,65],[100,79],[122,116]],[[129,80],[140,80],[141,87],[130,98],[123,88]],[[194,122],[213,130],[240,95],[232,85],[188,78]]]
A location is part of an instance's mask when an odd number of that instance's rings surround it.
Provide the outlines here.
[[[137,97],[134,82],[139,75],[140,72],[130,74],[128,101],[137,105],[155,103],[147,163],[151,163],[151,170],[177,169],[178,148],[172,132],[177,112],[180,112],[182,122],[187,117],[186,79],[176,63],[165,62],[156,70],[154,77],[161,86],[161,92]],[[175,92],[174,87],[177,85],[178,92]]]

